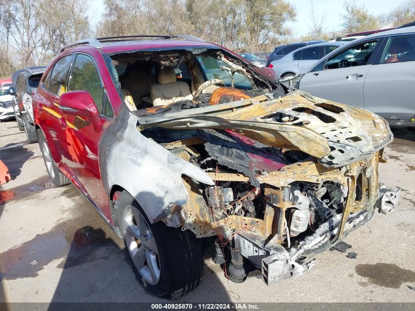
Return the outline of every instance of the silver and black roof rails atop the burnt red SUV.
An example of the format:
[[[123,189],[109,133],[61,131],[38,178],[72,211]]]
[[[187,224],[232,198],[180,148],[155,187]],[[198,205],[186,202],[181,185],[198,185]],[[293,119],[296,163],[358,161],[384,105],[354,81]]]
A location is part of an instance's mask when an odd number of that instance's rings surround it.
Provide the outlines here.
[[[111,37],[100,37],[100,38],[89,38],[83,39],[79,41],[75,41],[71,44],[65,45],[63,48],[59,50],[59,53],[62,53],[66,49],[75,47],[77,45],[90,45],[94,48],[100,49],[102,48],[101,42],[112,42],[112,41],[124,41],[127,39],[138,40],[140,38],[160,38],[160,39],[173,39],[173,38],[181,38],[190,41],[203,41],[202,39],[195,37],[193,35],[188,34],[174,34],[174,35],[154,35],[154,34],[133,34],[133,35],[124,35],[124,36],[111,36]]]

